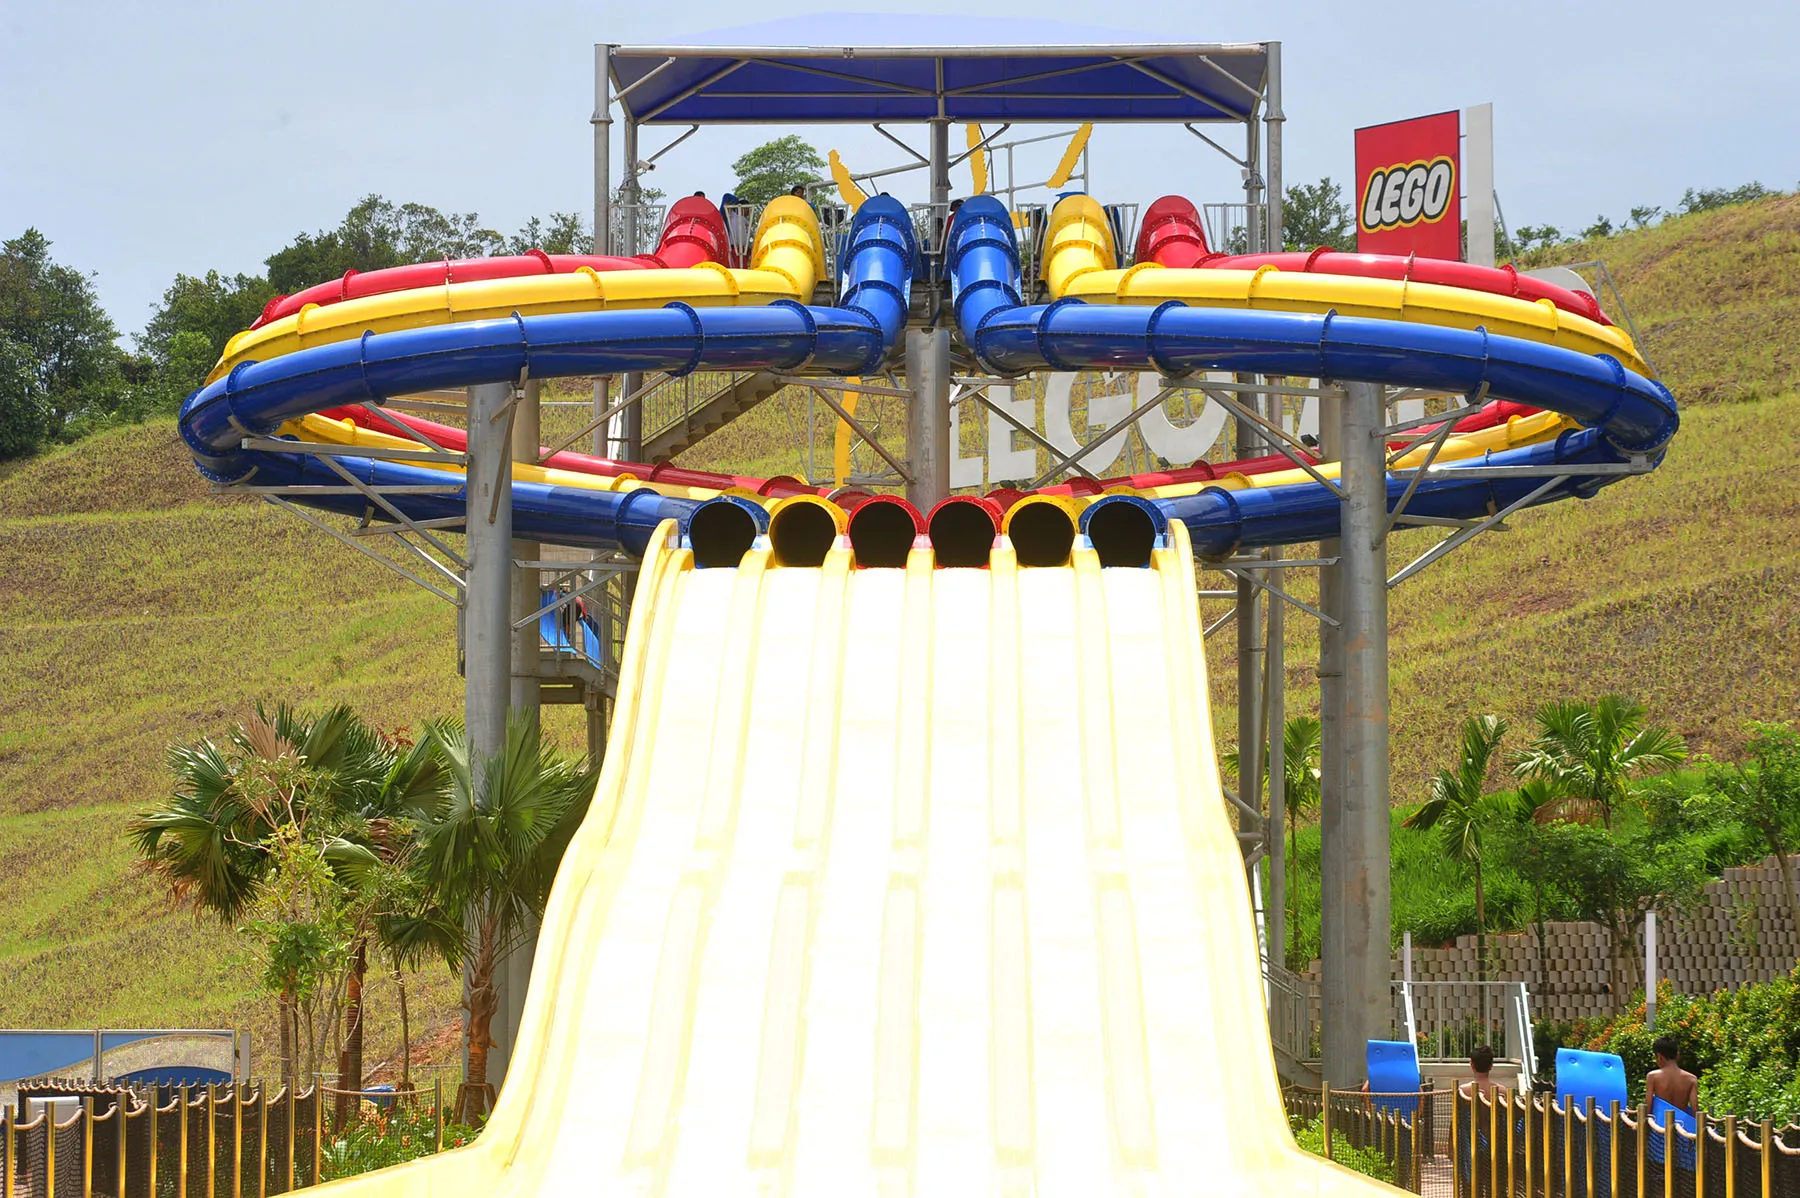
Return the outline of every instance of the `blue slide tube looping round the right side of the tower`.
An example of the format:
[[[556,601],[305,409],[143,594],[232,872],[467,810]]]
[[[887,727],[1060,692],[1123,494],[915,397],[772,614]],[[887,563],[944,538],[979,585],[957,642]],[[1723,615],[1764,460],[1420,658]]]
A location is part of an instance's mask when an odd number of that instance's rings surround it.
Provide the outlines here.
[[[999,374],[1024,371],[1159,371],[1181,376],[1238,371],[1386,383],[1514,399],[1571,416],[1589,428],[1553,443],[1463,459],[1433,469],[1408,511],[1478,518],[1525,498],[1543,477],[1456,478],[1471,466],[1568,468],[1571,478],[1535,502],[1593,495],[1618,475],[1582,466],[1660,460],[1678,428],[1665,387],[1609,356],[1588,356],[1483,329],[1444,329],[1337,315],[1084,304],[1022,304],[1012,218],[992,196],[961,205],[949,236],[950,293],[963,340]],[[1390,478],[1390,505],[1406,477]],[[1159,498],[1168,520],[1188,525],[1193,547],[1289,545],[1337,534],[1339,500],[1318,482],[1240,491],[1206,489]]]

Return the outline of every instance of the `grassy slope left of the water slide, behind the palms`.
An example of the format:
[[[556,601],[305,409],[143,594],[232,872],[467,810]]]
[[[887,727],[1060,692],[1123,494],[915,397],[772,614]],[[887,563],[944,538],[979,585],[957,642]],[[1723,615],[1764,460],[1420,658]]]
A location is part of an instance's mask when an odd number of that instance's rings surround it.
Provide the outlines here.
[[[299,520],[207,491],[173,421],[0,478],[0,1011],[13,1027],[247,1025],[272,1002],[238,937],[133,867],[126,818],[171,741],[259,698],[349,702],[383,725],[454,714],[452,612]],[[418,1027],[457,988],[421,979]],[[371,1059],[398,1040],[387,984]],[[266,1058],[265,1058],[266,1059]]]

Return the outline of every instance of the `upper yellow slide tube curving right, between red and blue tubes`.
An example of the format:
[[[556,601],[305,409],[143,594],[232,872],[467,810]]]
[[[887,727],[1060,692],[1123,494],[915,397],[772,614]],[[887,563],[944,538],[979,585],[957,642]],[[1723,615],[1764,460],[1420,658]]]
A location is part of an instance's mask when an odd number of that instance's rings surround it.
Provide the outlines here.
[[[1613,354],[1627,369],[1651,369],[1624,329],[1559,309],[1550,300],[1521,300],[1467,288],[1400,279],[1310,275],[1292,270],[1174,270],[1138,263],[1114,270],[1118,254],[1105,210],[1091,196],[1066,196],[1049,214],[1044,281],[1053,299],[1089,304],[1163,304],[1260,308],[1373,320],[1409,320],[1453,329],[1485,327],[1501,336],[1561,345],[1584,354]]]

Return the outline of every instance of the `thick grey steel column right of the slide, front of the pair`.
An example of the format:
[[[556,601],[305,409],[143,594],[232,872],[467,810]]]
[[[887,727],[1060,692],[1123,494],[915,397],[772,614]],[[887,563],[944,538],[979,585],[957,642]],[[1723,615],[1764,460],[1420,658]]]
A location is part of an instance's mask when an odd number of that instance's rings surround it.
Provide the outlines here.
[[[1341,410],[1343,523],[1339,563],[1321,570],[1339,678],[1328,702],[1321,863],[1325,941],[1325,1076],[1354,1086],[1366,1076],[1364,1045],[1388,1031],[1388,513],[1386,398],[1350,383]],[[1381,541],[1381,543],[1379,543]],[[1327,630],[1330,631],[1330,630]],[[1323,657],[1323,655],[1321,655]],[[1321,682],[1327,673],[1321,662]]]

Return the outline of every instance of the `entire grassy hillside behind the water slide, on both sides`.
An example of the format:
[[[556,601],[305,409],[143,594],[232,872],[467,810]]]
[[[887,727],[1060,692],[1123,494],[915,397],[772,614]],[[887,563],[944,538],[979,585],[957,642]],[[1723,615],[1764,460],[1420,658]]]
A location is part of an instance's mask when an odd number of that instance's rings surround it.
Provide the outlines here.
[[[1525,720],[1548,696],[1624,689],[1712,752],[1748,718],[1796,711],[1800,198],[1573,246],[1566,261],[1597,255],[1683,401],[1681,437],[1651,478],[1521,514],[1393,594],[1399,800],[1418,797],[1476,709]],[[904,414],[887,408],[871,401],[864,416],[898,432]],[[805,401],[790,398],[686,460],[796,471],[805,428]],[[824,469],[830,421],[814,434]],[[1391,559],[1431,540],[1397,536]],[[1310,594],[1310,577],[1294,590]],[[1291,709],[1307,709],[1318,639],[1300,615],[1289,631]],[[1229,633],[1210,649],[1229,743]],[[173,910],[122,840],[167,784],[164,747],[216,734],[257,698],[342,700],[389,727],[461,702],[446,606],[292,516],[211,495],[167,421],[0,471],[0,678],[9,1025],[243,1024],[266,1036],[272,1004],[236,937]],[[547,718],[574,743],[565,716]],[[418,1024],[446,1027],[454,979],[423,986]],[[385,986],[371,1020],[378,1059],[394,1043]]]

